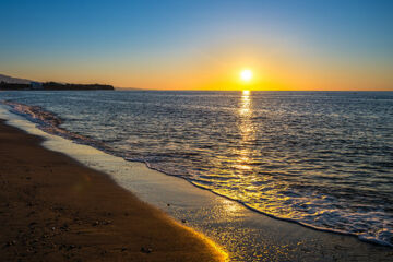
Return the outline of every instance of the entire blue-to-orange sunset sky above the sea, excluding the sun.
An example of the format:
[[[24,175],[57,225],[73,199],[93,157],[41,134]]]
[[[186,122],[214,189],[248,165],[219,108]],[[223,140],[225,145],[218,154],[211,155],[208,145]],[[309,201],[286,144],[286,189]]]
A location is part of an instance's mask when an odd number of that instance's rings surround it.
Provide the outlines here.
[[[393,91],[390,0],[0,7],[0,73],[12,76],[151,90]]]

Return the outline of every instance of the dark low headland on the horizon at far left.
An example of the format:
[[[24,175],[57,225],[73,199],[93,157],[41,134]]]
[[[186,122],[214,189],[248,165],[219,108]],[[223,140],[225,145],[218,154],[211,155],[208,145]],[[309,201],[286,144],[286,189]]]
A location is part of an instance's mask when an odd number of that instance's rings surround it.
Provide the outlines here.
[[[16,79],[0,74],[0,91],[16,91],[16,90],[50,90],[50,91],[94,91],[94,90],[115,90],[111,85],[104,84],[70,84],[57,82],[36,82],[25,79]]]

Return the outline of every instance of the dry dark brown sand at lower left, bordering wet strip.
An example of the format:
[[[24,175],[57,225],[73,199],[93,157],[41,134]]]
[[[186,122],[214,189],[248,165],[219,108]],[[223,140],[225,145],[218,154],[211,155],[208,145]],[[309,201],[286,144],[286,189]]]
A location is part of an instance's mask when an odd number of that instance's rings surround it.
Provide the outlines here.
[[[0,261],[222,261],[105,174],[0,121]]]

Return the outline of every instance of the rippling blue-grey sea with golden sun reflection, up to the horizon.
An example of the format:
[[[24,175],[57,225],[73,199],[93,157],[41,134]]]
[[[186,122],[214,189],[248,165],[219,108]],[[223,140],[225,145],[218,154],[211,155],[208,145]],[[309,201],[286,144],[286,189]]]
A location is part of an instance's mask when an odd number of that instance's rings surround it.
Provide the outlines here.
[[[393,92],[1,92],[43,130],[393,247]]]

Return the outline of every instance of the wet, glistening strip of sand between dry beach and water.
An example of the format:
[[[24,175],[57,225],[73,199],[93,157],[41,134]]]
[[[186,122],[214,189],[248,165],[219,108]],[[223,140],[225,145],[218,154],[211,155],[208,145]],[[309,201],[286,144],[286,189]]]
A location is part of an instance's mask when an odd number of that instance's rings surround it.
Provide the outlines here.
[[[126,162],[47,134],[22,117],[5,115],[3,118],[9,119],[10,124],[44,136],[46,148],[108,174],[122,188],[178,222],[187,219],[187,226],[222,245],[233,261],[389,261],[393,257],[391,248],[264,216],[183,179],[148,169],[142,163]]]

